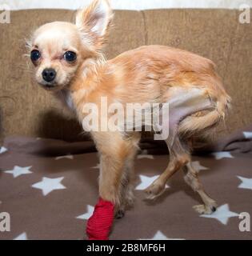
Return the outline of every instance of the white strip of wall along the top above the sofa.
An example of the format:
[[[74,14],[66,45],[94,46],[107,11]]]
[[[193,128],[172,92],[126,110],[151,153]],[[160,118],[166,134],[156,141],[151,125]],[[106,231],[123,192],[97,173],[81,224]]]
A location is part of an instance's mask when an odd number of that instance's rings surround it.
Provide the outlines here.
[[[66,9],[76,10],[89,4],[91,0],[0,0],[1,6],[10,10],[26,9]],[[110,0],[114,10],[150,10],[167,8],[196,9],[239,9],[241,5],[252,8],[252,0]]]

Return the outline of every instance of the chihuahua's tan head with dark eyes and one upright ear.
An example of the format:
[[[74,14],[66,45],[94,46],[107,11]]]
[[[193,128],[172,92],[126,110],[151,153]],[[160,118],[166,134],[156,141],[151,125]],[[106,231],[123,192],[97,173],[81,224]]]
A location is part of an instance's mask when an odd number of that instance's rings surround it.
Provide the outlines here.
[[[76,22],[46,23],[30,41],[30,59],[35,78],[46,90],[62,90],[79,67],[97,61],[113,18],[107,0],[94,0],[76,14]]]

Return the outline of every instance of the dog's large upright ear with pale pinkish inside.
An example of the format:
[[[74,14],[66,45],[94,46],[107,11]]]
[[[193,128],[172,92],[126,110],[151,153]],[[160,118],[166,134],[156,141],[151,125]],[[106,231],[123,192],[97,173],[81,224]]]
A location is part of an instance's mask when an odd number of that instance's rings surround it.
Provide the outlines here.
[[[107,0],[94,0],[84,10],[76,14],[76,26],[86,43],[91,43],[96,50],[102,47],[106,32],[112,22],[113,12]]]

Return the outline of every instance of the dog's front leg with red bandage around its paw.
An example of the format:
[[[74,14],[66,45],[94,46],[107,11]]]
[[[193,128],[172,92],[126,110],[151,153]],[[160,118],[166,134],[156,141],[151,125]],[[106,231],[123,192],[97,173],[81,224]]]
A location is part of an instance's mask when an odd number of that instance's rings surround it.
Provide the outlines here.
[[[123,170],[132,144],[120,132],[95,132],[91,135],[100,154],[100,199],[86,231],[90,239],[106,239],[114,214],[122,204]]]

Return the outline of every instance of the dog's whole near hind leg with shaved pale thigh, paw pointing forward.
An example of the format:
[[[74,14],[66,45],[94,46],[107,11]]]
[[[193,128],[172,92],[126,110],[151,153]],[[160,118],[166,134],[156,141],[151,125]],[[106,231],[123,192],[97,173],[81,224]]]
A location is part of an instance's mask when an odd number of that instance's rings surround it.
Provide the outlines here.
[[[168,179],[188,162],[190,162],[190,150],[181,141],[178,134],[179,123],[198,111],[207,110],[212,107],[212,102],[202,89],[193,88],[185,90],[183,88],[170,89],[169,117],[162,115],[162,127],[169,127],[169,136],[164,138],[170,151],[170,162],[166,170],[146,188],[147,198],[153,199],[162,194]]]

